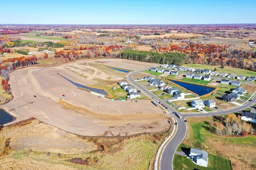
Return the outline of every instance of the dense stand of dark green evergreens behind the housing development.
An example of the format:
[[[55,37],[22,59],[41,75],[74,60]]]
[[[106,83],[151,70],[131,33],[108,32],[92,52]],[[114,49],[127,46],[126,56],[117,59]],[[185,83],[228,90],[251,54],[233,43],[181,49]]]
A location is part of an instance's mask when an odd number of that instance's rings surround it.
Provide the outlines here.
[[[181,66],[187,59],[188,55],[183,53],[156,53],[152,51],[135,51],[126,50],[120,53],[121,59],[142,61],[148,63],[160,63],[160,64],[175,64]]]

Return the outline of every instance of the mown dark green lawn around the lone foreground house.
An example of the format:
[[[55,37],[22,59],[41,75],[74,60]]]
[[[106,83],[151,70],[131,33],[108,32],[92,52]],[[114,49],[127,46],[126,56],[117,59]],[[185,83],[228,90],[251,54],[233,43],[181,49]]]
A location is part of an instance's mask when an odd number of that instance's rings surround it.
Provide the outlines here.
[[[186,156],[180,156],[175,154],[173,160],[174,170],[231,170],[231,162],[228,159],[222,158],[221,156],[215,156],[208,154],[208,166],[199,166],[194,164],[191,159]]]

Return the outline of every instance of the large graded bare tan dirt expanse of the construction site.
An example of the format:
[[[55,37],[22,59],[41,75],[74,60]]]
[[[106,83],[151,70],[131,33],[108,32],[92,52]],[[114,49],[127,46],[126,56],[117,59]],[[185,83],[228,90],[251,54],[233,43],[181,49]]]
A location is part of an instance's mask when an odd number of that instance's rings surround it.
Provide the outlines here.
[[[139,100],[138,103],[110,102],[108,98],[98,98],[78,89],[65,79],[90,85],[96,83],[94,78],[105,79],[107,76],[113,76],[91,66],[79,64],[96,61],[129,70],[154,65],[122,59],[100,59],[76,61],[48,68],[30,67],[16,70],[10,73],[9,80],[14,99],[3,107],[18,117],[16,121],[33,116],[44,123],[85,136],[126,136],[159,132],[168,128],[163,110],[155,107],[150,100]],[[89,73],[86,73],[86,70],[89,70]],[[66,100],[62,94],[66,95]],[[34,95],[37,97],[33,97]],[[59,102],[60,98],[63,102]]]

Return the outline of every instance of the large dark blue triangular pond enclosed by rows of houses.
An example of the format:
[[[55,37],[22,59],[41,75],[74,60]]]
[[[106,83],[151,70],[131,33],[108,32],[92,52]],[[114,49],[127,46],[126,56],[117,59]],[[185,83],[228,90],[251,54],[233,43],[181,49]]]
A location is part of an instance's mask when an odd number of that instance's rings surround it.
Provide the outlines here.
[[[198,96],[208,94],[215,89],[215,88],[210,88],[210,87],[206,87],[206,86],[199,86],[199,85],[195,85],[195,84],[178,82],[178,81],[174,81],[174,80],[170,80],[170,81],[186,88],[187,90],[190,90],[191,92],[198,94]]]

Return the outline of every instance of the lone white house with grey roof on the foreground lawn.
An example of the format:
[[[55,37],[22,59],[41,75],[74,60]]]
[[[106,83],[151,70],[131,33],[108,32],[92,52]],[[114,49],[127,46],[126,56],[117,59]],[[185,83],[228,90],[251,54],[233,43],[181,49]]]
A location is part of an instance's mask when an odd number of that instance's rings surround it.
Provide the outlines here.
[[[196,164],[207,167],[208,165],[208,152],[195,148],[190,149],[189,158]]]

